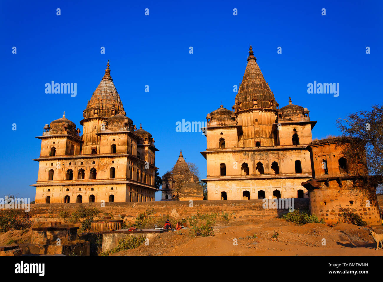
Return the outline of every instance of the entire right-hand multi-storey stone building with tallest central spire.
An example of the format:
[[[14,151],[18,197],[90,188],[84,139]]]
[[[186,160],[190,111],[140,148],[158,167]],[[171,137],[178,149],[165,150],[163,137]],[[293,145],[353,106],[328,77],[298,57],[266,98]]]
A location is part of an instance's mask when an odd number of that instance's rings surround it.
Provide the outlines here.
[[[291,98],[279,109],[251,46],[232,111],[221,105],[206,119],[208,200],[307,197],[316,121]]]

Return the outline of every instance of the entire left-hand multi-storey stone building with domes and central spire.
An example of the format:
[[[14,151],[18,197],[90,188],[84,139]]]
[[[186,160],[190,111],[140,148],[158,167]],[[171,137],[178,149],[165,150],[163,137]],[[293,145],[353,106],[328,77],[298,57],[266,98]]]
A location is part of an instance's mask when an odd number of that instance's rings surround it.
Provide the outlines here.
[[[83,111],[83,134],[65,117],[44,126],[36,203],[154,201],[152,135],[126,117],[110,76],[105,75]]]

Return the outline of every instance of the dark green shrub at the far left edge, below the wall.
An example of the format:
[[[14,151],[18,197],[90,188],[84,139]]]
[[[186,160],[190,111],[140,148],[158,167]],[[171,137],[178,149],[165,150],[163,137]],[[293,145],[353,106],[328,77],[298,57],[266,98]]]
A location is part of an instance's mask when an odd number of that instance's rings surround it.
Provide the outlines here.
[[[31,216],[18,209],[4,209],[0,212],[0,232],[23,230],[32,226]]]

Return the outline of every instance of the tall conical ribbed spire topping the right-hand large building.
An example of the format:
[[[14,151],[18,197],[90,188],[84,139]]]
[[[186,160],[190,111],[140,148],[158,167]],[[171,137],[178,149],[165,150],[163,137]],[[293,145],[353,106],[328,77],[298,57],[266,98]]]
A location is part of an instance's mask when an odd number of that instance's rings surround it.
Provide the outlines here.
[[[276,110],[277,101],[275,101],[274,94],[256,62],[257,59],[253,55],[252,46],[249,50],[245,74],[238,89],[234,107],[238,110],[251,109],[254,108],[254,101],[257,100],[257,108]],[[270,101],[273,103],[271,104]]]

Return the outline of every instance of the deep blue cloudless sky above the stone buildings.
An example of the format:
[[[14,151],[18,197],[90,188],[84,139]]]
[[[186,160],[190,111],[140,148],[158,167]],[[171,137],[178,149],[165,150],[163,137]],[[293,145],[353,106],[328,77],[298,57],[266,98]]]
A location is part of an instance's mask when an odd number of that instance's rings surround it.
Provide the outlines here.
[[[383,2],[333,2],[2,1],[0,196],[34,200],[29,185],[37,179],[38,163],[32,159],[41,145],[34,137],[64,111],[82,130],[82,111],[108,59],[126,115],[151,132],[160,150],[160,175],[182,148],[186,161],[206,176],[199,153],[206,138],[176,132],[175,123],[204,122],[221,102],[231,109],[249,45],[280,107],[291,96],[318,121],[313,138],[338,135],[337,118],[383,100]],[[77,96],[46,94],[44,85],[52,80],[77,83]],[[307,84],[314,81],[339,83],[339,97],[308,94]]]

